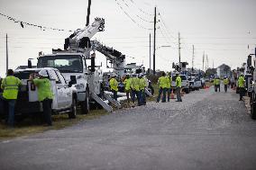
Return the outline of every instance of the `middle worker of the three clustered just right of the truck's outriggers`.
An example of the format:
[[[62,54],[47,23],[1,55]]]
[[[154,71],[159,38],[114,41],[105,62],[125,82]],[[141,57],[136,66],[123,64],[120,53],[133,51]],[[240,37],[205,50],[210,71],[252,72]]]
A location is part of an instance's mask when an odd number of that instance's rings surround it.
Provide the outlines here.
[[[137,77],[137,74],[133,74],[133,78],[131,80],[131,87],[132,87],[132,101],[133,101],[133,107],[134,107],[135,95],[137,96],[138,105],[140,105],[140,102],[141,102],[140,79]]]

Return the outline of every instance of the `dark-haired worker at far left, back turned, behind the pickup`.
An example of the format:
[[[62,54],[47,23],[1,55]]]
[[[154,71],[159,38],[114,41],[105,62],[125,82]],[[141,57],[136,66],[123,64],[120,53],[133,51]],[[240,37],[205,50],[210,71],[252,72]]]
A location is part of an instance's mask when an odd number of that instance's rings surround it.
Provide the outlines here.
[[[14,127],[14,111],[15,103],[18,97],[19,86],[22,85],[22,82],[19,78],[14,76],[14,70],[8,69],[7,76],[3,79],[1,88],[4,90],[2,100],[5,100],[8,103],[8,125]]]

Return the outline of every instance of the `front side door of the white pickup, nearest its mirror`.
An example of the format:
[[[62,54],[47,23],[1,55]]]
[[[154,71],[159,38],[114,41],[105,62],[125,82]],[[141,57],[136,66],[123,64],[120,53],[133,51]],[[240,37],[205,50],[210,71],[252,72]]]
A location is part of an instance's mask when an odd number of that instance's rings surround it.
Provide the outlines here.
[[[69,84],[68,82],[66,82],[64,76],[62,76],[58,70],[55,70],[56,75],[59,77],[59,81],[61,83],[61,85],[64,86],[63,89],[63,95],[64,95],[64,101],[63,103],[65,103],[65,106],[68,108],[72,105],[72,92],[69,88]]]

